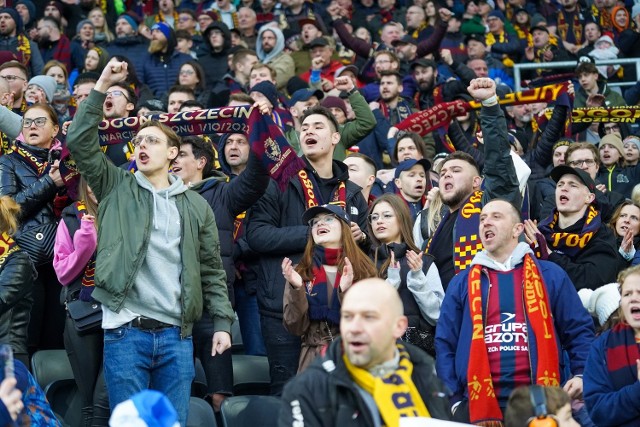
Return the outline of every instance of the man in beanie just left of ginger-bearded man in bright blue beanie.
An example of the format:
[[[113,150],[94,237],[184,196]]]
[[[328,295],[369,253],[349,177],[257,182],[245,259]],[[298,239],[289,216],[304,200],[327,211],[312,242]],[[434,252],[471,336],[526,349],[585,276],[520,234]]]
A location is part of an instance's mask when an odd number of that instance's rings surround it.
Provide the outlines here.
[[[149,41],[138,34],[139,18],[133,12],[125,12],[116,21],[116,38],[107,45],[111,56],[122,55],[129,58],[136,70],[142,68]]]

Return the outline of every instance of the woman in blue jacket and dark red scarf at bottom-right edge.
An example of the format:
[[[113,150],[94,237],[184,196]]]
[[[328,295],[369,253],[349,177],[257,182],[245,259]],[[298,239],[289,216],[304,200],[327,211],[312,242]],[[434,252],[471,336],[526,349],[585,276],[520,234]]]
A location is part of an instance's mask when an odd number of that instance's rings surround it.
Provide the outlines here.
[[[584,400],[599,426],[640,425],[640,266],[618,275],[621,321],[591,346]]]

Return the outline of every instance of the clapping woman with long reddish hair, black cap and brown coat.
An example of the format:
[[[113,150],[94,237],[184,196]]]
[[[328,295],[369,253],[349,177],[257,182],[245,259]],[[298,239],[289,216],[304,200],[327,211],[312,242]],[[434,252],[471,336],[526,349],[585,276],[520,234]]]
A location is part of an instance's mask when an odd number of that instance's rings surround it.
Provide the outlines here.
[[[340,334],[340,301],[349,287],[375,277],[376,270],[353,240],[347,214],[337,205],[307,209],[309,239],[300,263],[282,261],[285,328],[302,336],[302,372]]]

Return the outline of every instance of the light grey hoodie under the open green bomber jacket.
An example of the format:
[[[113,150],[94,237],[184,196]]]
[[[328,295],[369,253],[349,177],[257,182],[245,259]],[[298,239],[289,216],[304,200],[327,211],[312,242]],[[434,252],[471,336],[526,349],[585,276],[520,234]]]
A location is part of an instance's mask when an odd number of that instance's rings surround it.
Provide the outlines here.
[[[125,298],[124,308],[117,314],[105,312],[103,327],[119,326],[139,315],[180,326],[182,227],[176,196],[187,191],[187,186],[181,178],[169,175],[171,185],[156,190],[142,172],[136,172],[135,177],[138,185],[153,195],[149,245],[131,292]]]

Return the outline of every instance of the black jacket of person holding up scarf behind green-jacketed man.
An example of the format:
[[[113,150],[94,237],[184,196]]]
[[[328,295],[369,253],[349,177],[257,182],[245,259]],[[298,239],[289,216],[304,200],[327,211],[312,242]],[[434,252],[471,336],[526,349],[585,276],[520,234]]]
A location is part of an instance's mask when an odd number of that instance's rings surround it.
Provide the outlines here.
[[[226,139],[225,139],[226,141]],[[224,153],[221,143],[220,153]],[[221,158],[224,154],[221,155]],[[234,221],[264,194],[269,185],[269,174],[253,153],[249,155],[247,168],[240,175],[227,181],[227,176],[215,171],[214,175],[195,184],[192,189],[205,198],[216,216],[220,257],[227,273],[227,289],[231,305],[235,306],[233,283],[236,277],[234,265]]]

